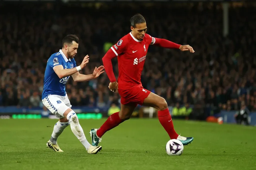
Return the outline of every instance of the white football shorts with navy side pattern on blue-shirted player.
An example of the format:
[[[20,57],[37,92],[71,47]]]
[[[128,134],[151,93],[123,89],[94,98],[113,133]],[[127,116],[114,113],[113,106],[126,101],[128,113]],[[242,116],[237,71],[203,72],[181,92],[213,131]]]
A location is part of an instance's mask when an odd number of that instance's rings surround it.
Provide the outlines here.
[[[42,103],[59,119],[63,118],[64,112],[72,107],[67,94],[66,96],[49,95],[42,100]]]

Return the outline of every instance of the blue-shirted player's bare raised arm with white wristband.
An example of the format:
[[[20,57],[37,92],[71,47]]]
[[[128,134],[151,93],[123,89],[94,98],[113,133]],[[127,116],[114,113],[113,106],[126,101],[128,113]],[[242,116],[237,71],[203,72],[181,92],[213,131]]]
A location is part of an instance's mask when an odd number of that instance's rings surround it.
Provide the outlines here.
[[[80,70],[82,70],[86,64],[89,62],[89,56],[86,55],[81,63],[80,66],[78,67],[75,67],[75,68],[72,68],[72,69],[64,69],[63,66],[61,64],[57,65],[57,66],[54,66],[53,67],[53,70],[54,72],[58,75],[58,77],[60,79],[62,79],[63,77],[67,77],[67,76],[70,76]]]

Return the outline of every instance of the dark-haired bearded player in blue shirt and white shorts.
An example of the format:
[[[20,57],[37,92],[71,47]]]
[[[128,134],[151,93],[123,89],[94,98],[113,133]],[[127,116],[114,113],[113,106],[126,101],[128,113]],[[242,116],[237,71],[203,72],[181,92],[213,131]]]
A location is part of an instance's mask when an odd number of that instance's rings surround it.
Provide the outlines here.
[[[54,53],[47,61],[44,76],[44,90],[42,93],[42,103],[52,114],[55,114],[59,121],[55,124],[50,140],[46,147],[63,152],[57,144],[57,138],[63,130],[70,124],[73,134],[86,148],[90,154],[98,153],[102,147],[92,146],[86,139],[83,129],[79,124],[76,113],[71,109],[71,104],[66,94],[66,83],[70,76],[76,82],[89,81],[99,77],[104,71],[104,67],[95,67],[90,75],[80,74],[89,62],[89,56],[85,56],[81,65],[77,66],[74,56],[77,54],[79,38],[76,35],[67,35],[62,40],[62,49]]]

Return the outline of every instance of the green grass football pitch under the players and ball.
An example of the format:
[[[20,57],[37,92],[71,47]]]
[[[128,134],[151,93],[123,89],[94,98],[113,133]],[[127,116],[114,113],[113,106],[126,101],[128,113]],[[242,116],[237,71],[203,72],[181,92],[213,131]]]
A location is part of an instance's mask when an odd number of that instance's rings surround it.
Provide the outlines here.
[[[105,120],[80,120],[88,132]],[[177,133],[193,136],[180,156],[165,152],[169,137],[157,119],[131,119],[107,132],[102,151],[90,155],[67,127],[62,153],[46,148],[57,120],[0,120],[0,169],[255,169],[256,128],[174,120]]]

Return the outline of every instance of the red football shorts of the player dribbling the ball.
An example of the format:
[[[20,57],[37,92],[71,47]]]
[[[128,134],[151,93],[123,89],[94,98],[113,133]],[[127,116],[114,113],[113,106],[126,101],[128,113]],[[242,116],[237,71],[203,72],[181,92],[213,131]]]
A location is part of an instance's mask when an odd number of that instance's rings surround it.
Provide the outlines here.
[[[121,96],[122,104],[134,103],[136,105],[142,105],[151,91],[144,89],[141,86],[133,86],[125,90],[118,89],[118,93]]]

